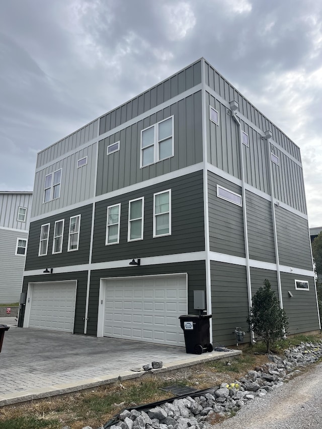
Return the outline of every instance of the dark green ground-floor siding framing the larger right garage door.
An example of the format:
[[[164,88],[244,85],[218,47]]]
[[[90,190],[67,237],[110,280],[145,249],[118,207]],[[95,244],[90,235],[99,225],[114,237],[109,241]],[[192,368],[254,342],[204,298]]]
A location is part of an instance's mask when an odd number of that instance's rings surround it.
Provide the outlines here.
[[[97,315],[99,306],[100,279],[110,277],[136,277],[158,274],[188,274],[188,314],[197,314],[193,309],[193,291],[206,290],[205,261],[190,261],[176,264],[157,264],[151,266],[114,268],[110,270],[95,270],[91,272],[91,287],[88,311],[87,333],[97,334]],[[180,320],[178,318],[178,325]]]

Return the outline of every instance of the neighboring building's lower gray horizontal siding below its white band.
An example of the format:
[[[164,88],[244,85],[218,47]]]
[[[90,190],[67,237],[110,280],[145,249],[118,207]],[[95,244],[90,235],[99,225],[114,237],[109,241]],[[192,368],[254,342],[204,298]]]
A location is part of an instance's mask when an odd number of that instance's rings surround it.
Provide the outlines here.
[[[17,238],[28,232],[0,228],[0,303],[18,302],[25,267],[25,255],[16,255]]]

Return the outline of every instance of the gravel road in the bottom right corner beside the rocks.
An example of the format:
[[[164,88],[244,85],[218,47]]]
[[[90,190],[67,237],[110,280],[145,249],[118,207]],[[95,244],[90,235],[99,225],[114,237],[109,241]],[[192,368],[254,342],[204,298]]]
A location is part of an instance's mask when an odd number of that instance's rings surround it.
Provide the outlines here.
[[[270,392],[215,429],[322,428],[322,363]]]

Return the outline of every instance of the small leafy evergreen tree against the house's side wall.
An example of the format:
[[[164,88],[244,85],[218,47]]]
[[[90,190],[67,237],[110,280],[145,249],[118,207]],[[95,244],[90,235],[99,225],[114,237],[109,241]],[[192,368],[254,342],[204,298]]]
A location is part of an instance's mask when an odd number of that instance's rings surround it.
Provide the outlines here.
[[[253,297],[247,321],[255,335],[265,341],[267,353],[270,353],[273,342],[287,333],[286,313],[280,308],[279,300],[267,279]]]

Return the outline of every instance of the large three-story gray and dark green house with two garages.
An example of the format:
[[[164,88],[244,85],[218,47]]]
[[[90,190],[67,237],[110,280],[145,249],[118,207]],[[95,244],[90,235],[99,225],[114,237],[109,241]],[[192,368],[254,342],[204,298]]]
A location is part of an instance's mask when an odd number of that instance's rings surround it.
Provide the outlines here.
[[[20,326],[184,346],[203,291],[233,345],[269,279],[320,327],[300,150],[204,58],[39,152],[31,216]]]

